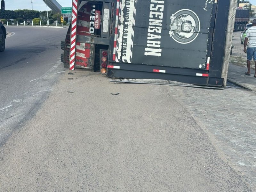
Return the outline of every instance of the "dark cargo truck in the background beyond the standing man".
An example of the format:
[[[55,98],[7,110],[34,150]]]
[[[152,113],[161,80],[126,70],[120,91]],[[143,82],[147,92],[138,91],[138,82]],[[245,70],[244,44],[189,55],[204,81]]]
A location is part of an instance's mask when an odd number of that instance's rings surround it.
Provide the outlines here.
[[[250,21],[250,11],[236,9],[234,31],[244,31],[246,24]]]

